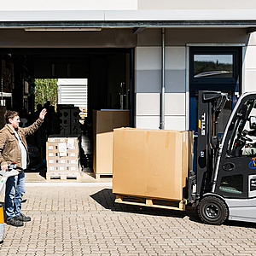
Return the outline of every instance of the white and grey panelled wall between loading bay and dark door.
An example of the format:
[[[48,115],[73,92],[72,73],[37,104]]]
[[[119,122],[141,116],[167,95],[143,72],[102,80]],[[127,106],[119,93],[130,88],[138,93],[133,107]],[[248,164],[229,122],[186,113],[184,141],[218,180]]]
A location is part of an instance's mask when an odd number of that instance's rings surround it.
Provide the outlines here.
[[[136,48],[136,127],[159,129],[161,47]],[[165,129],[185,129],[185,47],[166,47]]]

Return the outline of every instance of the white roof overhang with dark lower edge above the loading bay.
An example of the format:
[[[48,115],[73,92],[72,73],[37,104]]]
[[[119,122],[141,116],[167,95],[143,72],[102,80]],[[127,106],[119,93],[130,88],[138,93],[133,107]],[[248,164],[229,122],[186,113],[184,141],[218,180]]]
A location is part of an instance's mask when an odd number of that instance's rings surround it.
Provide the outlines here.
[[[254,32],[256,9],[0,10],[0,28],[224,27]]]

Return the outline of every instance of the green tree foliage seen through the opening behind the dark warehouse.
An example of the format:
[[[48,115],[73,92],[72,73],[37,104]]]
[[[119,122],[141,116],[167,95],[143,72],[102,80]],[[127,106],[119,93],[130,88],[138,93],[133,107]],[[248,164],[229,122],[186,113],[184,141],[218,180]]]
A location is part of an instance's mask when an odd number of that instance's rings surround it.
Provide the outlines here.
[[[58,104],[57,79],[35,79],[35,84],[35,108],[37,108],[38,104],[44,106],[48,101],[56,108],[56,105]]]

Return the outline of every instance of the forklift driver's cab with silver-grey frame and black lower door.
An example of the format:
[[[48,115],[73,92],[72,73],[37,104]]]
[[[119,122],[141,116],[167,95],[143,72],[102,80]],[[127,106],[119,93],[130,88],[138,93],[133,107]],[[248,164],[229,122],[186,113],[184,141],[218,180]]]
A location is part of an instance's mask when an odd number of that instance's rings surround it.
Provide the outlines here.
[[[256,95],[243,97],[237,107],[223,137],[214,192],[247,199],[248,178],[256,175]]]

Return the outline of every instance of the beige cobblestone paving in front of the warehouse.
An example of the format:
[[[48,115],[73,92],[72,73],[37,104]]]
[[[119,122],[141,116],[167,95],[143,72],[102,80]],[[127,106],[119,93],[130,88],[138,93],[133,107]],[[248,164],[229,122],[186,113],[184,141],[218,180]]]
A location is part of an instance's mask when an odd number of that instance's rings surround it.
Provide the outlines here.
[[[115,204],[111,183],[27,183],[24,199],[32,221],[6,225],[1,256],[255,255],[255,224]]]

